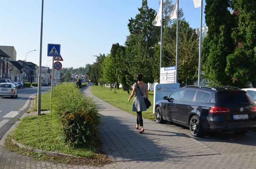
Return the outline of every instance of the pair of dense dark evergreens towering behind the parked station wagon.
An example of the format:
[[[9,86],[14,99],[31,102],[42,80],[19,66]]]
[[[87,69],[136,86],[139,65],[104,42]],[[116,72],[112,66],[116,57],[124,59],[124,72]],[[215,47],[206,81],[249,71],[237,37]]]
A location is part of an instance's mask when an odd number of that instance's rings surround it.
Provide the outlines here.
[[[202,60],[210,84],[256,87],[255,9],[255,0],[206,0]]]

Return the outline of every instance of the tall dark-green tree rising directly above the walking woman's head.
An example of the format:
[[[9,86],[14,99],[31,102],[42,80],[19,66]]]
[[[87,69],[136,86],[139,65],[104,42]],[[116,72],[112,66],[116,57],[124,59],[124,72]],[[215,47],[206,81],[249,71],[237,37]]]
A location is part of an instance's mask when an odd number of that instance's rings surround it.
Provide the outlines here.
[[[153,47],[158,42],[160,28],[152,25],[156,12],[147,5],[147,0],[142,0],[139,14],[129,19],[128,28],[130,35],[126,41],[126,56],[129,72],[134,80],[137,73],[143,74],[143,80],[154,82],[152,76]]]

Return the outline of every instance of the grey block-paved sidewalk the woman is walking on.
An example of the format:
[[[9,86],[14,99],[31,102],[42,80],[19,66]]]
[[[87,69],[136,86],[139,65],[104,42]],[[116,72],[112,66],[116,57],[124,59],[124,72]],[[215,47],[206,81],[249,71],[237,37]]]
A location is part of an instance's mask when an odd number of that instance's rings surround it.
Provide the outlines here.
[[[190,137],[189,130],[172,124],[144,120],[145,132],[135,129],[136,117],[93,96],[91,87],[82,89],[93,97],[104,115],[100,137],[103,150],[116,163],[110,168],[162,169],[255,169],[256,143],[248,136],[218,134],[207,138]],[[231,139],[232,138],[232,139]],[[0,169],[87,169],[95,166],[71,166],[40,162],[9,152],[0,146]]]

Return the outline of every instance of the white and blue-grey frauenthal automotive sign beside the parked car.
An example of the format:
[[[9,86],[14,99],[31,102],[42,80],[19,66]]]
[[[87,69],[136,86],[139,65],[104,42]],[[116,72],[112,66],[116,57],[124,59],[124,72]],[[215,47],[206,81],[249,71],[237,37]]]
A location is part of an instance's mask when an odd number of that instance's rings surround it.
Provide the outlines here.
[[[163,99],[163,96],[168,96],[175,90],[180,88],[180,83],[165,83],[165,84],[156,84],[154,89],[154,105],[153,105],[153,113],[155,113],[155,105],[157,101]]]

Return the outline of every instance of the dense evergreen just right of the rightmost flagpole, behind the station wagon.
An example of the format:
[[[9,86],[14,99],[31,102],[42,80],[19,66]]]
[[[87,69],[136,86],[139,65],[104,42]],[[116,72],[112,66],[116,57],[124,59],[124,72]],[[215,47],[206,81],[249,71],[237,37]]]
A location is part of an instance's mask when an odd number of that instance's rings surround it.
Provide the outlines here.
[[[225,73],[227,56],[233,52],[231,29],[234,17],[231,15],[230,0],[205,0],[205,23],[207,36],[202,45],[203,74],[210,84],[228,85],[230,78]]]

